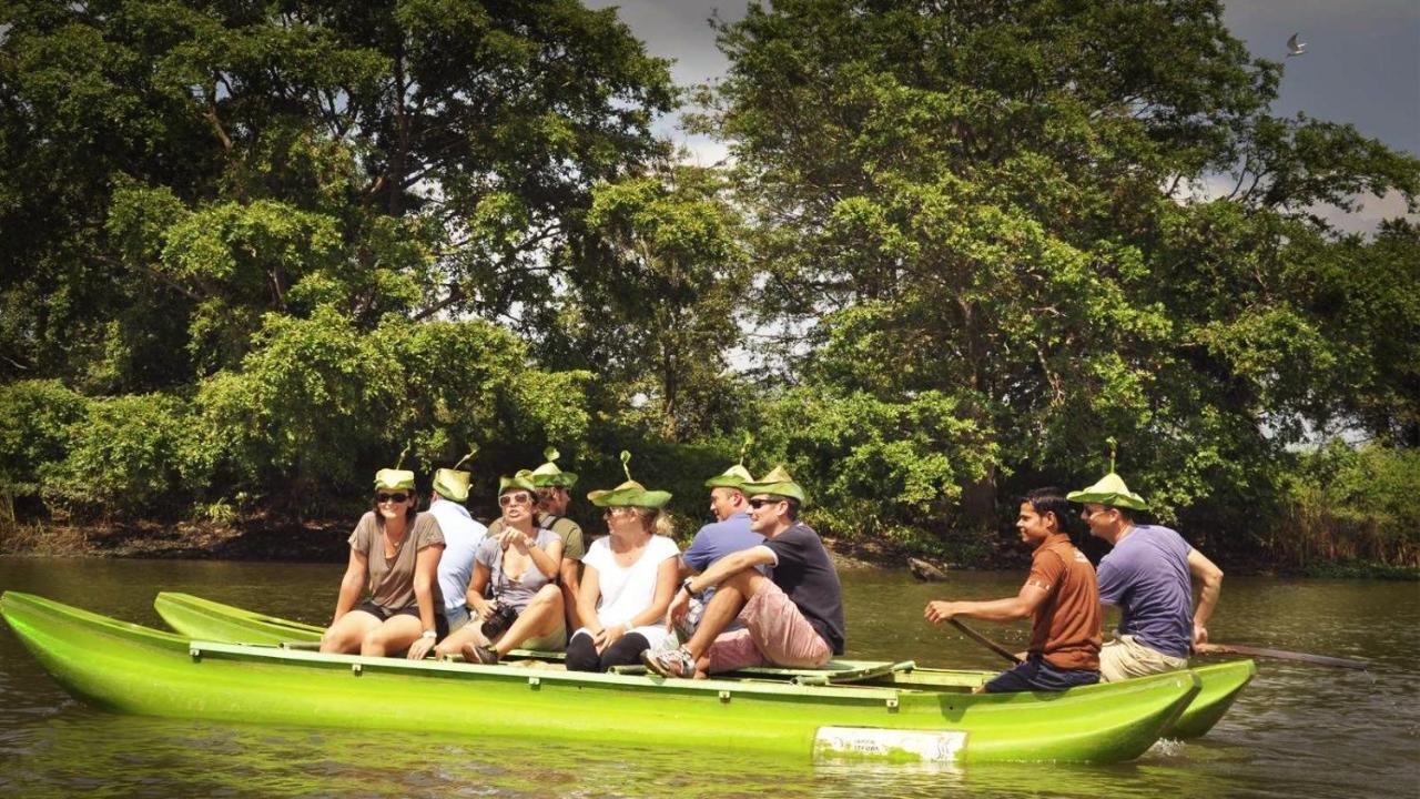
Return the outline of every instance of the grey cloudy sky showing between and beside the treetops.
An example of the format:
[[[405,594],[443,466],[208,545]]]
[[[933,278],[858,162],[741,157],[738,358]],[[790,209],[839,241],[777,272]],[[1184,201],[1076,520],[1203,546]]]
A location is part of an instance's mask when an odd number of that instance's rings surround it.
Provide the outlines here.
[[[673,58],[680,84],[714,80],[728,67],[707,24],[711,14],[744,17],[744,0],[586,0],[616,6],[622,20],[653,55]],[[1285,61],[1272,112],[1350,122],[1363,135],[1420,155],[1420,0],[1231,0],[1224,23],[1254,55]],[[1301,34],[1306,53],[1285,58],[1287,37]],[[659,131],[687,146],[693,159],[713,163],[724,146],[689,136],[676,119]],[[1231,186],[1231,183],[1228,183]],[[1367,198],[1352,216],[1323,213],[1348,230],[1370,230],[1403,212],[1399,196]]]

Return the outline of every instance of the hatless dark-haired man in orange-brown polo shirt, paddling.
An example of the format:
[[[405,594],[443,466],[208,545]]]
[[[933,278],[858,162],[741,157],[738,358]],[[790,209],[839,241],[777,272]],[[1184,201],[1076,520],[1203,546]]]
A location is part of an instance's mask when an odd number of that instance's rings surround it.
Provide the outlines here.
[[[1095,567],[1062,532],[1069,513],[1061,489],[1038,488],[1027,493],[1015,527],[1035,553],[1021,593],[991,601],[930,601],[923,611],[939,626],[954,616],[987,621],[1034,617],[1025,663],[998,674],[983,691],[1064,691],[1099,682],[1103,641],[1099,587]]]

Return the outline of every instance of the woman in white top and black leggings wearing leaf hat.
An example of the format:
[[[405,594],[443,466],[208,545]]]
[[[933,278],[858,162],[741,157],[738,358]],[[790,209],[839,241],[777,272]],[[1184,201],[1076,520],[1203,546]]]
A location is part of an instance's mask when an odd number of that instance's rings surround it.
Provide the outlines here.
[[[594,490],[586,499],[605,508],[609,536],[592,543],[582,559],[578,591],[584,627],[567,643],[567,668],[606,671],[640,663],[640,653],[672,636],[662,624],[676,594],[680,547],[670,539],[670,518],[662,510],[670,495],[646,490],[630,479],[630,452],[622,452],[626,482]]]

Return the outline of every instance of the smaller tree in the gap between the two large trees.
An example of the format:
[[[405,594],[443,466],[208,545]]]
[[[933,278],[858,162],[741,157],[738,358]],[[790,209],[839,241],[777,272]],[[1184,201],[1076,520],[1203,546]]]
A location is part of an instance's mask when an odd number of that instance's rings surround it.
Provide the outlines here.
[[[606,370],[618,404],[643,392],[650,431],[670,441],[734,422],[728,358],[748,270],[723,192],[717,172],[693,166],[596,186],[596,240],[579,267],[601,276],[579,281],[559,320],[581,363]]]

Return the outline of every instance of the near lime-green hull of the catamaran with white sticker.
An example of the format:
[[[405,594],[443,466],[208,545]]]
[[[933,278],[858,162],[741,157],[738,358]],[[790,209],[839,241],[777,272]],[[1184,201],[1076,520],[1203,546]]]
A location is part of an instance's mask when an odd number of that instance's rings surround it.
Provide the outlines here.
[[[1191,671],[1061,694],[662,680],[204,643],[16,591],[0,614],[65,690],[119,712],[791,758],[1127,761],[1200,690]]]

